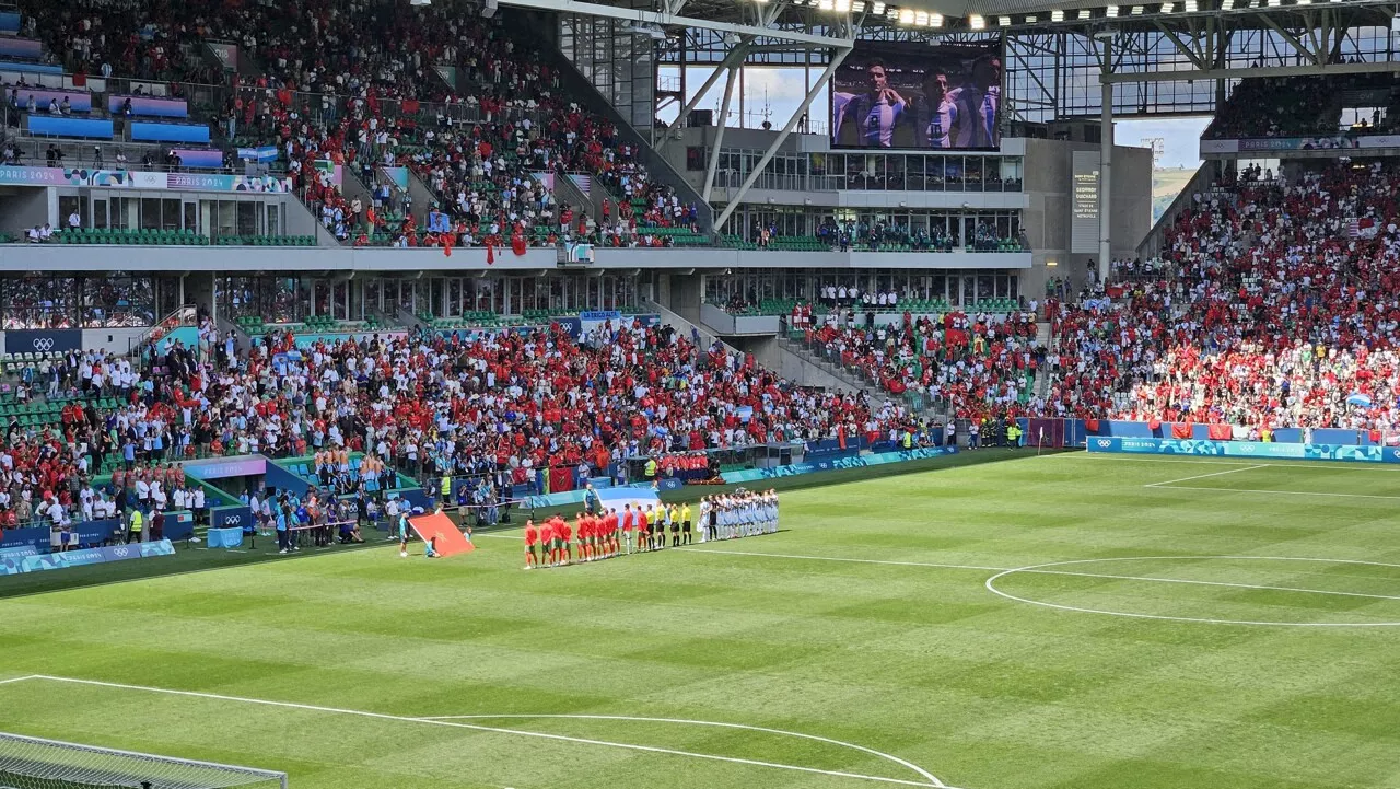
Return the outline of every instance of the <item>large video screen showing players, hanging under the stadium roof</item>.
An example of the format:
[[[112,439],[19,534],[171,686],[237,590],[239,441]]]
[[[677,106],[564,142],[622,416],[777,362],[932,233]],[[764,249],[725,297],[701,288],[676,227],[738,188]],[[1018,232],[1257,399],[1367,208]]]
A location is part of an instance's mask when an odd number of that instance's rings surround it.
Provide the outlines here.
[[[832,146],[995,149],[1001,45],[857,42],[832,81]]]

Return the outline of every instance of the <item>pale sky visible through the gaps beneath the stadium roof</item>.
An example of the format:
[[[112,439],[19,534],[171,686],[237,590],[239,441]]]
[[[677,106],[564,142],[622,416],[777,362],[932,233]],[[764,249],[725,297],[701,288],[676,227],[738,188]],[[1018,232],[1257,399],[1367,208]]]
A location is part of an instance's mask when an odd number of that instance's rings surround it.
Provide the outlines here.
[[[812,70],[812,78],[820,73],[819,69]],[[710,74],[708,67],[692,67],[686,74],[686,88],[692,92],[699,90],[704,84],[706,77]],[[666,83],[675,84],[679,78],[679,69],[676,67],[662,67],[661,78],[664,87]],[[767,119],[773,123],[774,129],[781,129],[787,119],[791,116],[792,111],[802,104],[802,95],[806,92],[806,83],[802,69],[762,69],[762,67],[748,67],[743,70],[743,126],[746,128],[760,128],[763,121]],[[724,98],[724,80],[715,80],[715,84],[706,97],[697,105],[700,109],[714,109],[718,111],[720,101]],[[823,108],[819,112],[812,112],[812,122],[822,125],[819,129],[825,132],[825,118],[827,107],[827,95],[823,91],[812,105],[816,108]],[[732,107],[729,108],[729,125],[739,125],[739,88],[735,87]],[[666,121],[675,118],[676,108],[668,108],[661,116]],[[1201,132],[1210,118],[1163,118],[1158,121],[1123,121],[1117,123],[1116,135],[1117,143],[1120,146],[1145,146],[1142,140],[1149,140],[1154,137],[1161,137],[1165,144],[1165,151],[1162,160],[1158,163],[1159,167],[1168,168],[1196,168],[1200,165],[1200,137]]]

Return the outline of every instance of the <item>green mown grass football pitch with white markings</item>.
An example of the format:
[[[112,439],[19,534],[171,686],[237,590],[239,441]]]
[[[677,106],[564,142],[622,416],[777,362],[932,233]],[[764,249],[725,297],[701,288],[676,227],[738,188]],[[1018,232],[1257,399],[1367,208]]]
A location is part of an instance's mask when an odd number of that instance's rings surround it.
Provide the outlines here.
[[[498,533],[18,596],[0,730],[294,789],[1397,788],[1397,506],[1383,468],[1018,457],[564,569]]]

